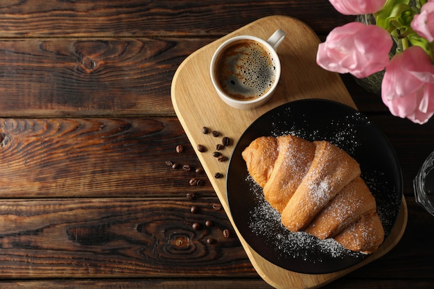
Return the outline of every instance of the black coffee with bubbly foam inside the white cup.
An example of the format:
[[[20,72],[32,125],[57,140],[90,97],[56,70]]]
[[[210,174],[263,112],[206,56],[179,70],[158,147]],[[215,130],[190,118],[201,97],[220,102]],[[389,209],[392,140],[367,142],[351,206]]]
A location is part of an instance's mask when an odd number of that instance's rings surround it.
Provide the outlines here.
[[[276,62],[265,46],[254,40],[238,40],[218,55],[216,78],[225,93],[251,100],[267,93],[276,80]]]

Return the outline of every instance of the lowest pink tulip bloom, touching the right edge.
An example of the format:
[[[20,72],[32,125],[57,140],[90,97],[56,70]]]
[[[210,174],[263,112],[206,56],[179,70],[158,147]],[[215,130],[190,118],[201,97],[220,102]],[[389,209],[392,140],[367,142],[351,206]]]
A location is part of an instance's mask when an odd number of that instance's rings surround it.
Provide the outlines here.
[[[426,123],[434,114],[434,68],[419,46],[392,58],[385,69],[381,98],[394,116]]]

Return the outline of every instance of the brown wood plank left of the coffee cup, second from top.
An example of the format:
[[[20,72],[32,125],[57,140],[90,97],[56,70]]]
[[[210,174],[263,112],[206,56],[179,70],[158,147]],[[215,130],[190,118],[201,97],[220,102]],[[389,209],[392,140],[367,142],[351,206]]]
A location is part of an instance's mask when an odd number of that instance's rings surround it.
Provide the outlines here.
[[[171,79],[212,39],[0,41],[0,114],[174,115]]]

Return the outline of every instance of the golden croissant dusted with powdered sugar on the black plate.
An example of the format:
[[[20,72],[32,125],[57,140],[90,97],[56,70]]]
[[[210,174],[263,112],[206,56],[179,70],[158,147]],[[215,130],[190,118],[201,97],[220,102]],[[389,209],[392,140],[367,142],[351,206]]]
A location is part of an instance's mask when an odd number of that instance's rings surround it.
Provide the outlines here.
[[[290,231],[372,253],[384,240],[375,198],[347,152],[328,141],[293,135],[259,137],[242,152],[264,198]]]

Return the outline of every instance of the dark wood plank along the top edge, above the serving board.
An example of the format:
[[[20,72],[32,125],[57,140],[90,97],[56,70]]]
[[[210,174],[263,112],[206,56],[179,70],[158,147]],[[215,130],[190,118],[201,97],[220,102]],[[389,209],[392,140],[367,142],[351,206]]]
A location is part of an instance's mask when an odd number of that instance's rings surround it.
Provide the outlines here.
[[[340,15],[327,0],[12,1],[0,7],[0,15],[0,37],[225,35],[268,15],[296,17],[328,33],[354,18]]]

